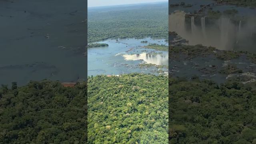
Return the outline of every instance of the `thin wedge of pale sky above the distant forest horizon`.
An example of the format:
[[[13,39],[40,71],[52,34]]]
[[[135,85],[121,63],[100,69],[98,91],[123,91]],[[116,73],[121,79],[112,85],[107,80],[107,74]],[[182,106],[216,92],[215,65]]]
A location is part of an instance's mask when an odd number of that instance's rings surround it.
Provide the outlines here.
[[[88,7],[140,4],[149,2],[168,2],[168,0],[88,0]]]

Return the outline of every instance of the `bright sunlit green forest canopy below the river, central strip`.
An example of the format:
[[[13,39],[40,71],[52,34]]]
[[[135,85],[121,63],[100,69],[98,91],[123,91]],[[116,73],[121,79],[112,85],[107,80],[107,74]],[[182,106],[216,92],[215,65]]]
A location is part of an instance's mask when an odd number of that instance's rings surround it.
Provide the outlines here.
[[[167,144],[168,78],[147,74],[89,78],[88,143]]]

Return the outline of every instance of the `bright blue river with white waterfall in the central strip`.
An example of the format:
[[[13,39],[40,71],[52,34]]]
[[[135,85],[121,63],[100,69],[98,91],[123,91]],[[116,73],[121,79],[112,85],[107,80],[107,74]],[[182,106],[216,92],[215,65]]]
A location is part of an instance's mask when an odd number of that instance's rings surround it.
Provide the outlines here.
[[[141,41],[148,41],[148,43],[142,43]],[[108,39],[98,43],[106,43],[109,46],[88,48],[88,76],[98,74],[119,75],[133,72],[159,75],[161,72],[158,68],[140,68],[139,64],[168,65],[168,52],[143,48],[143,46],[154,43],[168,46],[165,39],[127,38],[118,41]],[[166,68],[161,70],[168,72]]]

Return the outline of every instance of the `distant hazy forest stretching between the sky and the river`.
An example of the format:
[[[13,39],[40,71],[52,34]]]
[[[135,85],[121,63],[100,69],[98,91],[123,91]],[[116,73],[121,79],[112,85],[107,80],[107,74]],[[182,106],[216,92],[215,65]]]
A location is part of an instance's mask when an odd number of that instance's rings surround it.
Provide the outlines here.
[[[108,38],[168,38],[168,4],[88,9],[88,42]]]

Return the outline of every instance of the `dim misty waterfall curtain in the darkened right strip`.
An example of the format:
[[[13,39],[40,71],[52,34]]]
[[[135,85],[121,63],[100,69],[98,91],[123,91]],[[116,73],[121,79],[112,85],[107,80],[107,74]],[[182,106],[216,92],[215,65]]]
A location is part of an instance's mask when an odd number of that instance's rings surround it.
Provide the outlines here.
[[[196,25],[196,18],[190,17],[190,20],[191,23],[187,25],[186,12],[175,11],[169,15],[169,30],[188,40],[189,45],[202,44],[220,50],[232,50],[236,45],[238,49],[256,51],[253,48],[254,40],[251,40],[250,44],[245,42],[248,41],[247,38],[252,39],[256,33],[255,17],[250,17],[247,21],[241,20],[237,26],[229,18],[221,17],[209,25],[201,18],[200,28]],[[244,48],[244,44],[248,46]]]

